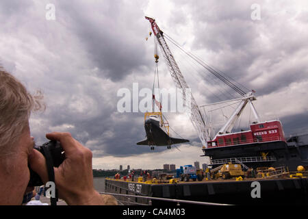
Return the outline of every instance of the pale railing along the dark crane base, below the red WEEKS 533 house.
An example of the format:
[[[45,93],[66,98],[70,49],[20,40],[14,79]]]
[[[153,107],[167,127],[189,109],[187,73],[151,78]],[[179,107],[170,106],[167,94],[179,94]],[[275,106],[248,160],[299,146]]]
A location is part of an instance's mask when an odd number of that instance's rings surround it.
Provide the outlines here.
[[[275,157],[230,157],[223,159],[211,159],[210,164],[228,164],[228,163],[252,163],[252,162],[276,162]]]

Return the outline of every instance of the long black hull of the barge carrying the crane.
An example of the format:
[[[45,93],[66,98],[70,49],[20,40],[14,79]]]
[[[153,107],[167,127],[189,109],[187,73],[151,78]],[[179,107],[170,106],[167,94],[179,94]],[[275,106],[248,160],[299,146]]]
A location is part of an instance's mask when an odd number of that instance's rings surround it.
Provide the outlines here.
[[[256,183],[259,183],[259,197]],[[231,205],[308,205],[308,179],[253,179],[244,181],[202,181],[175,184],[148,184],[114,179],[105,180],[105,191],[159,198]],[[119,199],[123,197],[117,197]],[[149,205],[145,198],[121,199],[126,205]],[[177,205],[152,200],[151,205]],[[185,205],[182,204],[181,205]]]

